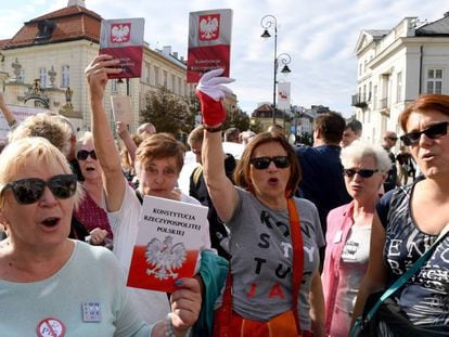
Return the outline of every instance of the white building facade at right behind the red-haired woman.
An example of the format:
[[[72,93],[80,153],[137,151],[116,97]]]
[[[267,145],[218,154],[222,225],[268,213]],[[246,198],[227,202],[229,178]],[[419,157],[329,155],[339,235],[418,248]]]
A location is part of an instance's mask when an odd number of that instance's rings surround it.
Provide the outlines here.
[[[401,134],[399,114],[419,95],[449,94],[449,12],[433,23],[405,17],[392,29],[362,30],[355,53],[352,106],[368,142],[380,144],[386,130]]]

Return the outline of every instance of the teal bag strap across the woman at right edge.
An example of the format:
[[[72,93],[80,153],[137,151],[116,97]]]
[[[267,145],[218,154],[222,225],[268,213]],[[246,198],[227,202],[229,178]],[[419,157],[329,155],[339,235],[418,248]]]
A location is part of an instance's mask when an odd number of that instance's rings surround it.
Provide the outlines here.
[[[421,267],[428,260],[432,252],[435,250],[436,246],[446,237],[447,233],[449,232],[449,222],[445,225],[442,231],[439,233],[437,239],[433,243],[433,245],[413,263],[412,267],[409,268],[407,272],[402,274],[398,280],[395,281],[394,284],[389,286],[388,289],[382,294],[381,298],[374,303],[373,308],[367,313],[365,321],[370,321],[377,309],[382,306],[382,303],[390,297],[393,294],[396,293],[406,282],[413,276],[413,274],[421,269]]]

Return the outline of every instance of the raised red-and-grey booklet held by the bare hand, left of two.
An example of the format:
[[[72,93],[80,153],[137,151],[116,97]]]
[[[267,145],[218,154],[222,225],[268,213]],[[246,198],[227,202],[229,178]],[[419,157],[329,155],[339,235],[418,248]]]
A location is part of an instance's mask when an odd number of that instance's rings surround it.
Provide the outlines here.
[[[101,22],[100,54],[120,60],[124,69],[110,78],[140,77],[142,74],[143,17],[114,18]]]

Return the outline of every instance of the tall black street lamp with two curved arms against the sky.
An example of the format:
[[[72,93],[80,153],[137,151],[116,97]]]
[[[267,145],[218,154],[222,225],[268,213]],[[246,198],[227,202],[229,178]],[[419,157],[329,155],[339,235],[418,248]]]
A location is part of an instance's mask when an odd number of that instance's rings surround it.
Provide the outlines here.
[[[274,15],[268,14],[265,15],[260,20],[260,26],[264,28],[264,34],[260,36],[264,39],[270,38],[271,35],[268,31],[269,28],[273,27],[274,30],[274,68],[273,68],[273,125],[275,125],[275,95],[277,90],[275,86],[278,85],[278,67],[279,64],[282,64],[283,67],[281,69],[282,74],[288,74],[292,73],[292,70],[288,68],[288,64],[292,61],[292,56],[290,56],[286,53],[282,53],[278,55],[278,21]]]

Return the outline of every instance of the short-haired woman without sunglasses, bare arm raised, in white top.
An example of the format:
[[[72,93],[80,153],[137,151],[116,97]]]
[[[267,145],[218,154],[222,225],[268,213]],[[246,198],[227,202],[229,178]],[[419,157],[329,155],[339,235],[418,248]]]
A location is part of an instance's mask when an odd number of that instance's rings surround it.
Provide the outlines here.
[[[168,133],[153,134],[139,145],[136,152],[136,170],[139,178],[138,191],[134,191],[128,184],[121,171],[120,156],[115,146],[103,106],[107,75],[121,72],[116,68],[118,60],[114,60],[111,55],[99,55],[86,68],[86,78],[92,108],[93,142],[97,157],[104,173],[103,183],[107,216],[114,233],[113,251],[125,271],[128,272],[137,241],[143,196],[151,195],[196,205],[200,202],[176,189],[185,150],[183,144]],[[202,239],[204,247],[210,247],[208,233],[205,233]],[[203,258],[201,263],[203,263]],[[216,265],[216,270],[218,272],[220,265]],[[194,280],[204,282],[200,276],[195,276]],[[168,308],[165,293],[138,288],[129,289],[146,320],[165,316]],[[172,301],[172,297],[170,301]]]

